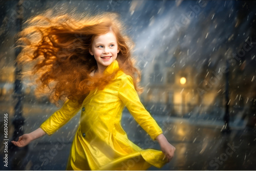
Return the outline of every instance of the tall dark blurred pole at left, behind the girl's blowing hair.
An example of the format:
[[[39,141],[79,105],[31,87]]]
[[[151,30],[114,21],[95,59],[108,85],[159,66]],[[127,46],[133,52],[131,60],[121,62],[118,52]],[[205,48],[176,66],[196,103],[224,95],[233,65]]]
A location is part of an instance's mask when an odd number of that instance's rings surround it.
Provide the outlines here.
[[[18,1],[16,6],[16,12],[17,12],[17,18],[15,20],[17,32],[22,30],[22,21],[23,21],[23,1]],[[15,37],[15,45],[16,40],[18,37]],[[17,48],[15,50],[15,58],[17,58],[18,54],[20,53],[21,48]],[[15,60],[14,60],[15,61]],[[23,90],[22,90],[22,81],[18,79],[18,76],[22,73],[22,67],[17,65],[17,63],[14,63],[15,65],[15,82],[14,82],[14,92],[13,92],[13,103],[14,106],[14,117],[12,119],[12,124],[14,126],[14,132],[12,135],[12,140],[17,141],[19,136],[23,135],[23,125],[24,125],[24,117],[23,114]],[[12,141],[11,140],[11,141]],[[13,145],[11,142],[9,142],[10,151],[17,151],[19,147]],[[26,147],[27,148],[27,147]]]

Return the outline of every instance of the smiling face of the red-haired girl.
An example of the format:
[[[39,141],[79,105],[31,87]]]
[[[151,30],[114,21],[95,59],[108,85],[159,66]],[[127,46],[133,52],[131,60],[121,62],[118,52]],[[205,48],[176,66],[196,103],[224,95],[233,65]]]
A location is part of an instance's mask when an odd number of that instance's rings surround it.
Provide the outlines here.
[[[119,52],[115,34],[110,31],[97,36],[93,40],[92,49],[89,52],[94,55],[99,72],[103,72],[116,59]]]

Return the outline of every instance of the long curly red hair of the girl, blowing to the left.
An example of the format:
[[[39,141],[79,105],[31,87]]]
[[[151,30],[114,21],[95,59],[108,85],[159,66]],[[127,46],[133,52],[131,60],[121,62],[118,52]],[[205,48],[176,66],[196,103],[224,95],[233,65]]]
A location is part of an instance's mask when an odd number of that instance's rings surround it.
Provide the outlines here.
[[[36,87],[36,97],[47,95],[50,102],[67,98],[78,101],[80,106],[90,91],[104,89],[119,70],[132,76],[137,92],[140,71],[134,67],[131,58],[134,45],[129,36],[121,31],[123,24],[116,13],[105,12],[97,15],[57,16],[37,15],[29,18],[26,28],[19,32],[16,47],[22,47],[16,62],[24,66],[20,79],[29,76]],[[113,31],[120,52],[117,55],[119,69],[112,74],[90,73],[97,69],[97,62],[89,53],[95,37]],[[77,106],[77,107],[79,107]]]

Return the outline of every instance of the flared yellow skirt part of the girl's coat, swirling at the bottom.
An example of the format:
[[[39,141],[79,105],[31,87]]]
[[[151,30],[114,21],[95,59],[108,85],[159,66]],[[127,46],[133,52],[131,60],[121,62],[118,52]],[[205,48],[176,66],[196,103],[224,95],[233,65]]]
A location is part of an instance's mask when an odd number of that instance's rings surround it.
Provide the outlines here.
[[[128,155],[109,157],[108,154],[103,154],[95,146],[84,141],[79,126],[71,145],[66,170],[146,170],[152,165],[161,168],[166,164],[161,151],[151,148],[139,149]],[[96,153],[92,154],[92,152]]]

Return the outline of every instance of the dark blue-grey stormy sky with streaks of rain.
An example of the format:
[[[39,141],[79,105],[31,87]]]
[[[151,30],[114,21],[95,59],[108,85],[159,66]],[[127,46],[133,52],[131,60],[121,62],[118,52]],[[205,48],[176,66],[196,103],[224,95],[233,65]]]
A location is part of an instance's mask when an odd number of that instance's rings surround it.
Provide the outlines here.
[[[2,42],[15,33],[12,18],[17,2],[0,2]],[[134,55],[138,56],[140,66],[156,56],[166,58],[166,62],[172,60],[173,55],[169,54],[179,48],[186,52],[181,56],[185,66],[192,65],[198,72],[204,66],[215,69],[230,54],[243,53],[246,40],[256,41],[255,1],[25,1],[23,6],[25,19],[46,9],[59,13],[120,13],[136,44]],[[245,61],[243,72],[255,74],[255,44],[236,60],[234,70]]]

